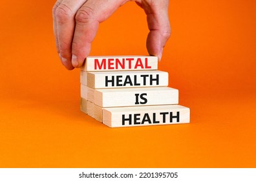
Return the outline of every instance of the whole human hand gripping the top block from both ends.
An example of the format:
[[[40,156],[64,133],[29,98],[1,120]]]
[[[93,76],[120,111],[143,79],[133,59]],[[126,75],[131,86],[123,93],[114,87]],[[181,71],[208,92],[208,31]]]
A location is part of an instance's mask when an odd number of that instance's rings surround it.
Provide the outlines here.
[[[54,36],[59,58],[72,70],[79,68],[91,51],[99,24],[129,0],[57,0],[52,9]],[[147,51],[162,58],[163,48],[171,34],[169,0],[133,0],[147,14],[149,34]]]

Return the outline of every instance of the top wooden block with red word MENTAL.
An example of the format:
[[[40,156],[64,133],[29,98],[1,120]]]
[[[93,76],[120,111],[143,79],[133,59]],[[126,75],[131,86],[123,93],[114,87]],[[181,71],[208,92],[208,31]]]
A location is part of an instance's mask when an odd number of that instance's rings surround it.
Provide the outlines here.
[[[156,56],[89,56],[81,70],[117,71],[117,70],[157,70]]]

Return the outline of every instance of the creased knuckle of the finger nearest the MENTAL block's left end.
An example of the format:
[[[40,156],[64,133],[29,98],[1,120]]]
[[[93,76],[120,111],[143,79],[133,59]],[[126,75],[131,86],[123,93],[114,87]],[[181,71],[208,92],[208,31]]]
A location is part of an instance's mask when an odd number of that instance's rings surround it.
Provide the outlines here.
[[[94,19],[94,11],[89,6],[83,6],[76,14],[77,23],[88,23]]]

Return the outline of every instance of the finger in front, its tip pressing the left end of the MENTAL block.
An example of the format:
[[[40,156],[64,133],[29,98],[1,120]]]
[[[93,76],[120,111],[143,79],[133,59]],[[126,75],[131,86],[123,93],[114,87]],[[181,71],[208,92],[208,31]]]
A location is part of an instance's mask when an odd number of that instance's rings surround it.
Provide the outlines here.
[[[76,14],[76,27],[72,43],[72,65],[81,67],[89,56],[91,43],[98,26],[126,0],[88,0]]]

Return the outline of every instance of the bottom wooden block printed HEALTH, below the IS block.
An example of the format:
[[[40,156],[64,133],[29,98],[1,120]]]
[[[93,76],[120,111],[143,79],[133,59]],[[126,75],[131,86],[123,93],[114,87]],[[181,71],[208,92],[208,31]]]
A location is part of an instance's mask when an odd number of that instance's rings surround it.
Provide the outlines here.
[[[189,123],[189,108],[181,105],[111,107],[103,109],[103,123],[109,127]]]

